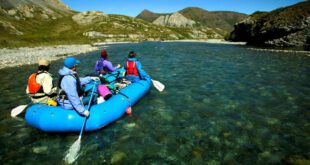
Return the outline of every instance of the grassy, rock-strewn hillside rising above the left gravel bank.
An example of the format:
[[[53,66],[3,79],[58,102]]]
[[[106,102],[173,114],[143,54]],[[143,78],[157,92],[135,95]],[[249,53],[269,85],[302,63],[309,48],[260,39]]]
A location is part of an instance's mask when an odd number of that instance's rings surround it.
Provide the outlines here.
[[[133,17],[76,12],[61,0],[0,0],[0,47],[185,38],[187,32]]]

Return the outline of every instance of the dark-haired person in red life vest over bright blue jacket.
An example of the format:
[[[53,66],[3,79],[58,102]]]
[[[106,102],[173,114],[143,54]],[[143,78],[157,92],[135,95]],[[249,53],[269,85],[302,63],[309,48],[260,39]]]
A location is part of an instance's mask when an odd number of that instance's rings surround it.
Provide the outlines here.
[[[139,80],[146,80],[146,78],[149,77],[149,75],[142,69],[142,65],[140,61],[136,58],[136,53],[134,51],[129,52],[126,65],[124,66],[126,69],[125,78],[132,83]]]

